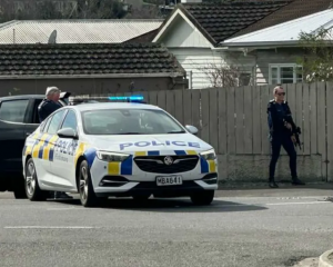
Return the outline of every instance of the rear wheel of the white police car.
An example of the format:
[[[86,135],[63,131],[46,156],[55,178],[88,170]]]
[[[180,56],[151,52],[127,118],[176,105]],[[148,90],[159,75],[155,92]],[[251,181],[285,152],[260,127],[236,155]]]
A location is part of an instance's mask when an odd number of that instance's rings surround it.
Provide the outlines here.
[[[46,200],[47,192],[42,191],[38,185],[38,177],[32,158],[26,165],[24,187],[27,197],[31,201]]]

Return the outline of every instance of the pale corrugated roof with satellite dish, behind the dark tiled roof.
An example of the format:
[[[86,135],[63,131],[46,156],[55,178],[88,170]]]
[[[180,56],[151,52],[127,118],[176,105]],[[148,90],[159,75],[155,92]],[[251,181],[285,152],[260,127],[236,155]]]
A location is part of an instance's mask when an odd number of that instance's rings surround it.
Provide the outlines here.
[[[159,29],[163,20],[13,20],[0,24],[0,43],[117,43]]]

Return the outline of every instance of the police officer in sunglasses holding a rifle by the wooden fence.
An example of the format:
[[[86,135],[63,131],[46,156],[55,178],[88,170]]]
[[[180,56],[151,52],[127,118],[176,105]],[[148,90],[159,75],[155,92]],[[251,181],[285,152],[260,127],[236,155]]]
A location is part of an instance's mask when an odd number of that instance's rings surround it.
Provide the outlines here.
[[[305,185],[297,178],[296,170],[296,151],[294,148],[295,138],[292,134],[292,125],[285,122],[284,118],[291,116],[291,110],[286,101],[284,101],[285,92],[281,85],[273,89],[274,99],[268,106],[268,120],[270,128],[270,141],[272,146],[272,157],[270,162],[269,186],[278,188],[274,180],[275,166],[280,156],[281,146],[290,157],[290,171],[293,185]]]

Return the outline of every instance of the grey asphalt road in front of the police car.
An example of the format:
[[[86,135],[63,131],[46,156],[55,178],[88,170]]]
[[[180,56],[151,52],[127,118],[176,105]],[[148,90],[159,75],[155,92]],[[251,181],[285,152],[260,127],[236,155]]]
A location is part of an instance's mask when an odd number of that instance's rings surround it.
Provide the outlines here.
[[[31,202],[0,194],[0,266],[293,266],[333,248],[333,190],[219,191],[188,199]]]

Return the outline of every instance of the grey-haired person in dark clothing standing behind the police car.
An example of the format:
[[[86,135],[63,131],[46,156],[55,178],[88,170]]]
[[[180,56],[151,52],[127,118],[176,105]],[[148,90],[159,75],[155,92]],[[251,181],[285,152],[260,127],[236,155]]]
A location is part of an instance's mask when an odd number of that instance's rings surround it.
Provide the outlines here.
[[[57,87],[48,87],[46,92],[46,98],[38,106],[38,116],[40,122],[42,122],[46,118],[49,117],[57,109],[60,109],[62,106],[58,102],[60,98],[60,90]],[[71,196],[65,192],[54,192],[54,199],[64,198],[70,199]]]

